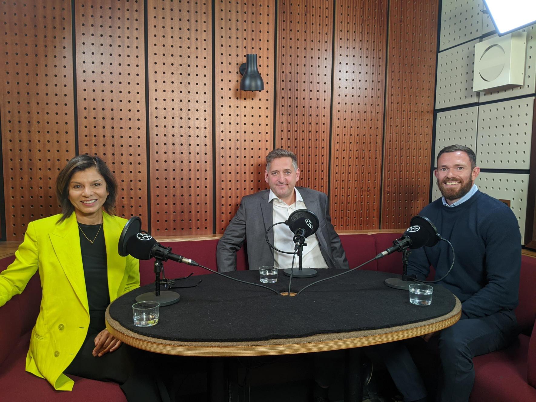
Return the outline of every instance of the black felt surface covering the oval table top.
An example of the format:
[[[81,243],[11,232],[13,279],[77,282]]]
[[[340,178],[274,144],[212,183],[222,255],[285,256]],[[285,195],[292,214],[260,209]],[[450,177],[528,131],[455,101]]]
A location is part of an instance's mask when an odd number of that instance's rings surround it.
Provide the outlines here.
[[[292,292],[343,270],[318,270],[316,278],[293,278]],[[237,271],[229,276],[259,283],[258,271]],[[321,333],[375,330],[433,319],[455,307],[455,297],[434,285],[432,303],[415,306],[408,291],[386,286],[392,273],[356,270],[307,288],[294,297],[281,296],[257,286],[241,284],[217,274],[190,277],[176,286],[181,300],[160,307],[159,323],[137,327],[132,322],[136,296],[154,291],[154,284],[135,289],[111,303],[110,317],[126,329],[148,337],[172,341],[256,341],[307,337]],[[180,285],[177,285],[180,283]],[[286,292],[288,277],[279,271],[275,284]]]

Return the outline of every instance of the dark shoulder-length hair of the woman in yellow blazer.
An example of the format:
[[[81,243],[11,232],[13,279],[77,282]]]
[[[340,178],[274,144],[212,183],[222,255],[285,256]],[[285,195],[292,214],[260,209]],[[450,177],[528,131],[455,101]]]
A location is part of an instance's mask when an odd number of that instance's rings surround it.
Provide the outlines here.
[[[76,172],[82,172],[94,167],[97,172],[104,177],[106,182],[106,191],[108,191],[108,197],[102,206],[104,210],[110,215],[115,212],[115,197],[117,196],[117,182],[115,181],[114,174],[111,173],[105,161],[99,157],[92,157],[90,155],[78,155],[72,158],[67,165],[59,172],[56,179],[56,195],[59,200],[59,204],[62,207],[62,217],[59,218],[58,224],[69,218],[75,207],[69,200],[69,183],[71,182],[72,175]]]

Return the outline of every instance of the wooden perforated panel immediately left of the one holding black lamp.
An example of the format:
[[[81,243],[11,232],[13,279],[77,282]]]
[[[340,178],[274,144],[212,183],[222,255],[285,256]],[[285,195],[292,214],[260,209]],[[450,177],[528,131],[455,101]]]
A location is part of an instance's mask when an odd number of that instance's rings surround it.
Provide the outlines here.
[[[211,2],[150,0],[151,230],[212,233]]]

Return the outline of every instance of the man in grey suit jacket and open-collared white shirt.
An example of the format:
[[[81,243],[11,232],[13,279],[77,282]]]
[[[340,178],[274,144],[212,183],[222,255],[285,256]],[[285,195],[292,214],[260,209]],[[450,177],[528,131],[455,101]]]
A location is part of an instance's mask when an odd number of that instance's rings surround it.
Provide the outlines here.
[[[319,220],[317,232],[306,240],[303,266],[348,269],[346,254],[331,224],[327,196],[323,192],[295,187],[300,179],[296,155],[281,148],[271,151],[266,156],[264,178],[270,190],[243,197],[238,211],[218,242],[218,271],[236,270],[236,251],[240,250],[244,241],[248,244],[250,270],[258,270],[264,265],[290,268],[292,255],[273,251],[266,243],[265,233],[274,222],[287,220],[297,209],[308,209]],[[293,233],[286,225],[274,226],[268,237],[276,248],[294,250]]]

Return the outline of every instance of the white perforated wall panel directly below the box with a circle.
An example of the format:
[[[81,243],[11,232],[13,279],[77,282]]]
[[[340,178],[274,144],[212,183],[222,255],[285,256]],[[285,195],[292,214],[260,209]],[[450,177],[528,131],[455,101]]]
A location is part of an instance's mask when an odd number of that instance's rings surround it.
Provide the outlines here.
[[[534,98],[479,106],[477,161],[481,168],[529,169]]]

